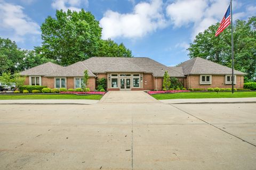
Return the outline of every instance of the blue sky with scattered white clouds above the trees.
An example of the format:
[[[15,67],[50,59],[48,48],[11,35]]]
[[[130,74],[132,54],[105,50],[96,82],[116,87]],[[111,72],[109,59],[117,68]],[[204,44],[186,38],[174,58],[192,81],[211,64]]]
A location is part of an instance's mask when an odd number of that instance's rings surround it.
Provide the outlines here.
[[[168,66],[189,59],[189,43],[225,14],[229,0],[0,0],[0,37],[22,49],[41,45],[40,26],[55,10],[84,8],[100,21],[102,38],[124,43],[135,57]],[[256,1],[233,1],[234,19],[256,14]]]

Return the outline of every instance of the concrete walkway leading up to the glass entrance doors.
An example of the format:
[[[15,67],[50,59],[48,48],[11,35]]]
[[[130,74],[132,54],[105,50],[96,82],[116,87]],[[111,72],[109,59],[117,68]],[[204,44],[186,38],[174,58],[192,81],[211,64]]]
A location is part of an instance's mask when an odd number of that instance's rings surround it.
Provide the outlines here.
[[[144,91],[109,91],[100,104],[159,104],[161,103]]]

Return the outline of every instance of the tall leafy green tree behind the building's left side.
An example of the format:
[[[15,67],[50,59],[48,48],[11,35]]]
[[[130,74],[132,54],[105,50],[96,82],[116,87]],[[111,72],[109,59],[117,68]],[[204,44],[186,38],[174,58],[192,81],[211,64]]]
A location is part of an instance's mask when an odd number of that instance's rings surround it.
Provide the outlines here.
[[[45,19],[41,30],[43,43],[35,48],[37,53],[61,65],[92,56],[132,56],[123,44],[102,40],[99,21],[83,9],[79,12],[57,10],[55,18],[49,16]]]

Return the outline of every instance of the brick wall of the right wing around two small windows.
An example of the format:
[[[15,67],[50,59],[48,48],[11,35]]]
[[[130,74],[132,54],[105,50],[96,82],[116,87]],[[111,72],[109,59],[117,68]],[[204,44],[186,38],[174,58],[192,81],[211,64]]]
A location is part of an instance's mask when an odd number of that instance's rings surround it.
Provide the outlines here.
[[[190,86],[189,86],[190,85]],[[231,84],[225,84],[225,75],[212,75],[212,84],[200,84],[200,75],[190,75],[187,77],[187,88],[231,88]],[[244,77],[236,75],[235,88],[244,87]]]

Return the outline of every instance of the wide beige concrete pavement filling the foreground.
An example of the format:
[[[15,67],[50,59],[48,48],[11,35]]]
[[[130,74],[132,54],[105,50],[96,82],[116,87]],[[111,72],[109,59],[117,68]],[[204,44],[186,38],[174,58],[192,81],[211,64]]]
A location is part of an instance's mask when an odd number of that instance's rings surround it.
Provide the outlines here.
[[[255,106],[0,105],[0,167],[255,169]]]

